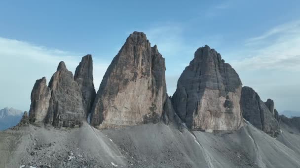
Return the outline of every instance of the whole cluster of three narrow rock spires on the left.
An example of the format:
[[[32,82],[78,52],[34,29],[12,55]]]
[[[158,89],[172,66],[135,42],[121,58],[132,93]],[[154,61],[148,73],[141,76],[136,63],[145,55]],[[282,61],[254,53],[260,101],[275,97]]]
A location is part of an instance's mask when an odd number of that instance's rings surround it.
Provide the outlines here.
[[[30,122],[56,127],[82,125],[95,97],[92,57],[83,56],[75,77],[63,61],[53,74],[49,86],[46,78],[36,81],[31,93]]]

